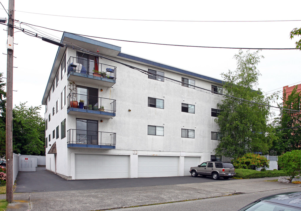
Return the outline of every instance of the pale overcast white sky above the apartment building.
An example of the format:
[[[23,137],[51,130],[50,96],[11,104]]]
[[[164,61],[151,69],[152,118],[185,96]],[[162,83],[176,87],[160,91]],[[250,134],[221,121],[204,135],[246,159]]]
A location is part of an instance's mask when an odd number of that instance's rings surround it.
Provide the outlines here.
[[[0,2],[5,9],[8,9],[8,0],[0,0]],[[4,8],[0,5],[0,19],[8,17]],[[17,27],[38,34],[47,34],[58,40],[61,40],[63,35],[60,31],[67,31],[110,39],[175,45],[295,48],[295,42],[301,37],[291,40],[290,31],[301,27],[301,16],[298,12],[300,8],[299,0],[199,0],[185,1],[185,3],[175,0],[87,2],[15,0],[14,18],[18,20],[15,21]],[[186,22],[179,22],[179,20]],[[3,29],[0,31],[2,52],[0,72],[6,77],[7,27],[5,25],[0,27]],[[238,53],[238,49],[166,46],[93,39],[120,46],[123,53],[217,79],[222,79],[221,73],[234,71],[237,67],[233,56]],[[58,46],[17,29],[14,30],[14,43],[16,58],[14,58],[13,105],[27,102],[27,106],[40,106]],[[269,94],[281,91],[283,86],[301,83],[299,50],[262,50],[260,54],[265,57],[257,67],[262,74],[259,77],[258,88],[263,92]],[[137,74],[140,73],[137,71]],[[44,113],[45,106],[42,106],[42,117]]]

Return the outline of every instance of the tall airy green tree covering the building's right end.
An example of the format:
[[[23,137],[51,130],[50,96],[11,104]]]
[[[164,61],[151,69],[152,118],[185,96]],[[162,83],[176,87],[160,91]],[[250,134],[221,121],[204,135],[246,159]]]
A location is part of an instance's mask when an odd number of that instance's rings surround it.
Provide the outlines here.
[[[229,96],[269,104],[270,99],[256,89],[260,76],[256,66],[260,58],[264,58],[258,53],[259,50],[254,53],[240,50],[234,55],[237,69],[222,73],[223,87]],[[215,122],[220,127],[222,138],[215,149],[216,154],[236,159],[248,152],[267,153],[273,130],[267,125],[269,109],[229,96],[217,104],[221,112]]]

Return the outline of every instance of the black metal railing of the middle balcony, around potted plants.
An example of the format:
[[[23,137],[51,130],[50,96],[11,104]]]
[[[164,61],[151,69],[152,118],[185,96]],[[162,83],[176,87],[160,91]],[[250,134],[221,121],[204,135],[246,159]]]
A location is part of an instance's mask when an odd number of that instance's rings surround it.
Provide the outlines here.
[[[67,96],[67,102],[67,109],[71,107],[109,113],[116,112],[116,100],[113,99],[69,93]]]

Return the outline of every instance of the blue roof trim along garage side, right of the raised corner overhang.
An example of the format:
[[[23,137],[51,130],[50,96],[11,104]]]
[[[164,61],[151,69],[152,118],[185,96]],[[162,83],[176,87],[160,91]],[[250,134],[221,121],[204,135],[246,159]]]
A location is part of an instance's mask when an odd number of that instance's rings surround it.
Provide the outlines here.
[[[182,69],[172,67],[172,66],[169,66],[169,65],[166,65],[166,64],[161,64],[161,63],[158,63],[158,62],[150,61],[150,60],[147,60],[147,59],[139,58],[139,57],[136,57],[136,56],[125,54],[125,53],[120,52],[117,56],[127,58],[127,59],[131,59],[131,60],[134,60],[134,61],[143,62],[145,64],[150,64],[150,65],[154,65],[154,66],[157,66],[157,67],[165,68],[165,69],[168,69],[168,70],[173,70],[173,71],[176,71],[176,72],[179,72],[179,73],[191,75],[191,76],[194,76],[194,77],[198,77],[198,78],[201,78],[201,79],[213,81],[213,82],[216,82],[216,83],[220,83],[220,84],[224,83],[222,80],[219,80],[219,79],[211,78],[211,77],[208,77],[208,76],[203,76],[203,75],[200,75],[200,74],[197,74],[197,73],[192,73],[192,72],[189,72],[187,70],[182,70]]]

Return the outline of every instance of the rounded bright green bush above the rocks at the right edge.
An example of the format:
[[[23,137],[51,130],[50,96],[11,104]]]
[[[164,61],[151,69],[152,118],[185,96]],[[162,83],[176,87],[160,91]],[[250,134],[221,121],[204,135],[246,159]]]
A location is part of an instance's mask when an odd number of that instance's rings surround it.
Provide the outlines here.
[[[300,174],[301,171],[301,150],[292,150],[278,156],[278,165],[289,176],[290,180]]]

